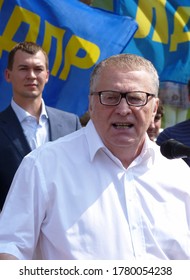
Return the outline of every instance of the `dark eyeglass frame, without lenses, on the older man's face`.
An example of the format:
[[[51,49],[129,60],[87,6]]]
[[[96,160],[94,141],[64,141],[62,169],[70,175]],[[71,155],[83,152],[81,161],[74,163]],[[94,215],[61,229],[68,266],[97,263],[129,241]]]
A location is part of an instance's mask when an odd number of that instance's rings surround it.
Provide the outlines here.
[[[104,92],[117,92],[117,93],[120,93],[120,99],[119,99],[118,103],[116,103],[116,104],[110,104],[110,105],[109,105],[109,104],[104,104],[104,103],[102,103],[101,94],[104,93]],[[135,93],[135,92],[140,92],[140,93],[145,93],[145,94],[146,94],[146,102],[145,102],[144,104],[142,104],[142,105],[134,105],[134,104],[130,104],[130,103],[128,102],[127,94],[129,94],[129,93]],[[116,90],[102,90],[102,91],[94,91],[94,92],[91,92],[90,95],[98,95],[98,96],[99,96],[99,101],[100,101],[100,103],[101,103],[102,105],[104,105],[104,106],[117,106],[117,105],[120,104],[121,99],[122,99],[122,98],[125,98],[127,104],[128,104],[129,106],[133,106],[133,107],[143,107],[143,106],[145,106],[145,105],[148,103],[148,98],[149,98],[149,96],[156,97],[155,94],[149,93],[149,92],[146,92],[146,91],[142,91],[142,90],[127,91],[127,92],[119,92],[119,91],[116,91]]]

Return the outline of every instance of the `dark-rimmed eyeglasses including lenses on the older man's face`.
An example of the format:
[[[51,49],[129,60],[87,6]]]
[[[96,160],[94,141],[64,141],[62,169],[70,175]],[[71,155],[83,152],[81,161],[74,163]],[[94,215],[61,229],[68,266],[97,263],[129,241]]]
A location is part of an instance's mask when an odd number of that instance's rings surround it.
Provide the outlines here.
[[[98,95],[100,103],[106,106],[116,106],[125,98],[129,106],[142,107],[148,103],[148,97],[155,97],[155,94],[144,91],[118,92],[113,90],[104,90],[92,92],[91,95]]]

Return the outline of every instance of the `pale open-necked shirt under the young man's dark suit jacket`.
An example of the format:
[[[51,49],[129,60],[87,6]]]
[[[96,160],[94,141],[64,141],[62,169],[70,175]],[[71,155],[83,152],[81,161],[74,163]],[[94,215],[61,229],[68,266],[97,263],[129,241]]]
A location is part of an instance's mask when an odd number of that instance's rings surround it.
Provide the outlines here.
[[[48,115],[43,99],[39,122],[36,117],[21,108],[13,99],[11,100],[11,106],[20,121],[26,139],[32,150],[49,141]]]

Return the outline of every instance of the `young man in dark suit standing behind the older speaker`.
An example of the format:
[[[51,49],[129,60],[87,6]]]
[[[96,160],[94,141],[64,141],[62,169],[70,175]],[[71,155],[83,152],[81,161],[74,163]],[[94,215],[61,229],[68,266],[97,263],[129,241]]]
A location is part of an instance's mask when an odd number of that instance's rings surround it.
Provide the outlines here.
[[[9,53],[5,78],[12,84],[13,97],[0,113],[0,211],[23,157],[81,128],[75,114],[45,106],[48,67],[46,52],[35,43],[21,42]]]

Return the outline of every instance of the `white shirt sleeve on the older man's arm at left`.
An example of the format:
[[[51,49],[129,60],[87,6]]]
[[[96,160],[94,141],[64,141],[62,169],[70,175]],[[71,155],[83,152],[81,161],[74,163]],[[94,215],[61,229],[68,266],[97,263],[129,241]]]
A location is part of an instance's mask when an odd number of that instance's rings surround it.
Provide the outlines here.
[[[0,252],[32,259],[45,218],[47,195],[40,167],[26,156],[18,168],[0,215]],[[10,220],[10,217],[14,217]]]

